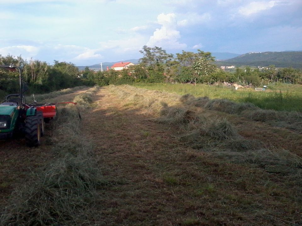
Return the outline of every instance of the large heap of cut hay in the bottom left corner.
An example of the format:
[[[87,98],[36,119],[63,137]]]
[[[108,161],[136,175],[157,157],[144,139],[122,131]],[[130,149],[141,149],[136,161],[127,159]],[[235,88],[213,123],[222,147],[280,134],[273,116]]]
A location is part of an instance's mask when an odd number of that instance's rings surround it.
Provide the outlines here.
[[[89,157],[66,154],[38,178],[15,191],[1,225],[89,225],[90,205],[102,176]],[[88,211],[87,211],[88,210]]]

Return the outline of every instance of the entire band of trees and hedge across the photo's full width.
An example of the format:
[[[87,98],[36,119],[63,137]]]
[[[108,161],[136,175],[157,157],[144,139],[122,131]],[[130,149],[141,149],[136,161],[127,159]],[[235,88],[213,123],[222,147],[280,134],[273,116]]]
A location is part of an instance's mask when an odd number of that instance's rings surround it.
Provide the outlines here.
[[[270,65],[263,70],[251,67],[237,67],[234,72],[226,72],[215,65],[215,57],[210,52],[182,51],[167,53],[161,47],[143,46],[139,64],[129,69],[94,72],[88,67],[79,71],[72,63],[54,61],[53,65],[39,60],[27,62],[21,56],[1,56],[0,65],[13,63],[22,70],[23,78],[31,93],[46,93],[80,85],[109,85],[142,83],[207,83],[229,82],[260,85],[263,81],[302,84],[302,72],[294,68],[276,68]],[[17,93],[18,73],[0,70],[0,96]]]

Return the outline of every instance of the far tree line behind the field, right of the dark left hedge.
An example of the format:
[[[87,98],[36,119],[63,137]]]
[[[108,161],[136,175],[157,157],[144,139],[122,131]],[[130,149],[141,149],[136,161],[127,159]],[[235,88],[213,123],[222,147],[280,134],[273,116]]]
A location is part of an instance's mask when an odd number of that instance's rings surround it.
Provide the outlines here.
[[[270,65],[259,68],[237,67],[234,72],[221,70],[215,65],[215,57],[210,52],[182,51],[182,53],[167,53],[160,47],[143,46],[140,51],[143,57],[139,64],[122,71],[109,70],[93,72],[85,68],[83,78],[98,85],[143,83],[207,83],[228,82],[247,85],[252,83],[285,82],[302,84],[302,72],[294,68],[276,68]]]

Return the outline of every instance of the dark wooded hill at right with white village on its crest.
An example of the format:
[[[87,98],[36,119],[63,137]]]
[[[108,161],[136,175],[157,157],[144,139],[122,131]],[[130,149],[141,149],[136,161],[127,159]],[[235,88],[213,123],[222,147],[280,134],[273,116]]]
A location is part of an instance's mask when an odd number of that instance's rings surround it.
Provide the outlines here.
[[[216,61],[217,66],[261,66],[302,68],[302,51],[250,52],[232,59]]]

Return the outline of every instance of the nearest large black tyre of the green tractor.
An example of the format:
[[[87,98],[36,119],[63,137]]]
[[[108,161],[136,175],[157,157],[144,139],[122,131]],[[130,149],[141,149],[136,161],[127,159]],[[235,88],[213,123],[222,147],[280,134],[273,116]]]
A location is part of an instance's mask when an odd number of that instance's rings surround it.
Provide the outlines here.
[[[29,147],[40,145],[41,128],[40,118],[37,116],[28,116],[25,121],[25,141]]]

